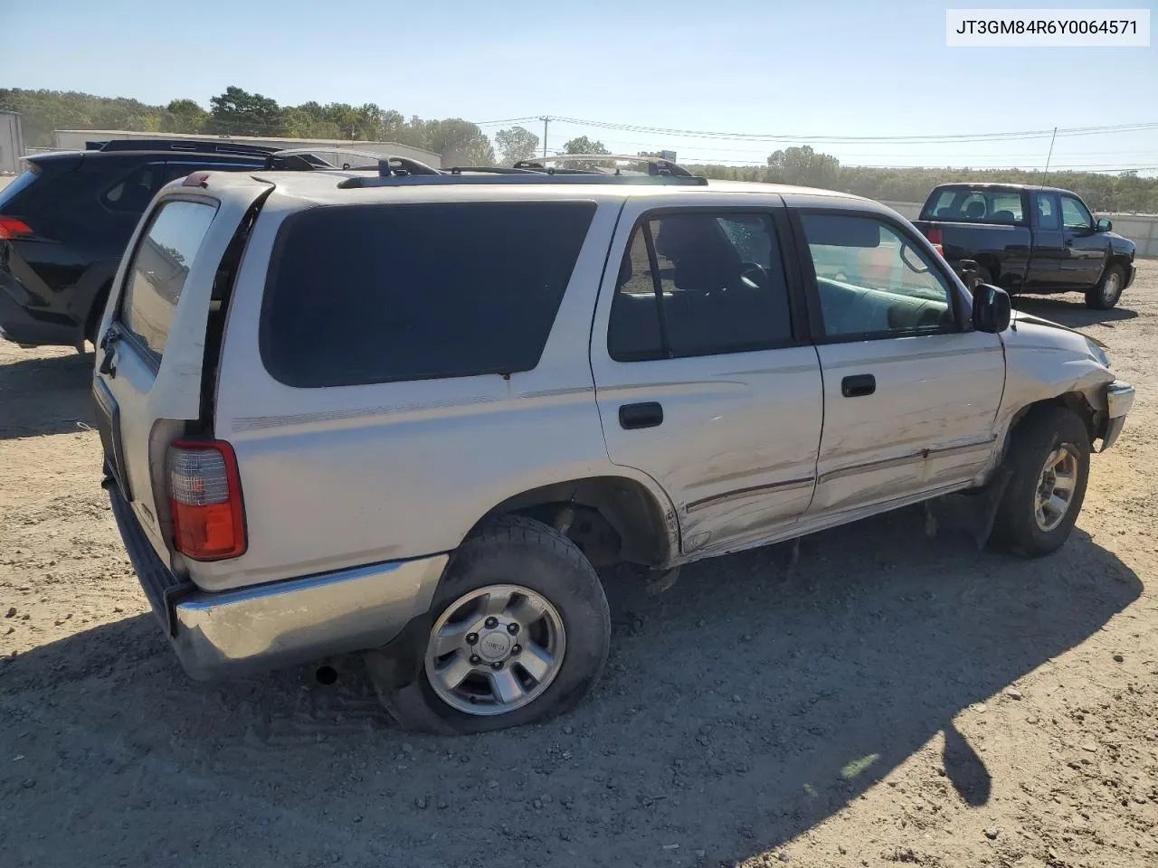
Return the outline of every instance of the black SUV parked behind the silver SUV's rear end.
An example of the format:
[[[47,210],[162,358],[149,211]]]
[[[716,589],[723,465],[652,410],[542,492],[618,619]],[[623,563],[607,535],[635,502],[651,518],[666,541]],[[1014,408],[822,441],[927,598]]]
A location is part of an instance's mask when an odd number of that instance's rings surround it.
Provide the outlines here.
[[[265,168],[276,148],[170,139],[28,157],[0,190],[0,336],[83,348],[153,196],[198,169]]]

